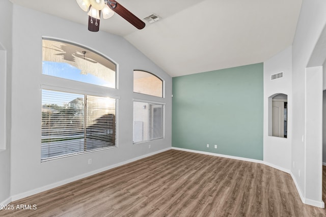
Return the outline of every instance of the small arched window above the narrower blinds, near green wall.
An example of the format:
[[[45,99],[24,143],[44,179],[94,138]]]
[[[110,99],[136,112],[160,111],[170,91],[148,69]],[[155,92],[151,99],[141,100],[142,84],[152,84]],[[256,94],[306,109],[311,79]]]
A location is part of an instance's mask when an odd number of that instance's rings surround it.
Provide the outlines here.
[[[149,72],[134,70],[133,91],[140,94],[163,97],[163,81]]]

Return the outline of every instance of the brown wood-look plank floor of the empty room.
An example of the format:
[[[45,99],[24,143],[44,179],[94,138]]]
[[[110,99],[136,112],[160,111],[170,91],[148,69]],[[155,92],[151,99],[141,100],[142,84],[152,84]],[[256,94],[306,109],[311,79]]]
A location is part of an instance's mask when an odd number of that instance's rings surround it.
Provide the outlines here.
[[[326,216],[325,209],[302,203],[285,172],[178,150],[11,204],[37,209],[2,210],[0,216]]]

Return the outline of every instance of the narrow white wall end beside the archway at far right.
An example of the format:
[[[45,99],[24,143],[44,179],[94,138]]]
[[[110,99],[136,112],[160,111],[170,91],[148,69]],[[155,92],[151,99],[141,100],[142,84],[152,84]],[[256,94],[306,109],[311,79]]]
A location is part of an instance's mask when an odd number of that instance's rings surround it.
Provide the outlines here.
[[[311,202],[321,202],[322,66],[307,68],[305,76],[305,197]]]

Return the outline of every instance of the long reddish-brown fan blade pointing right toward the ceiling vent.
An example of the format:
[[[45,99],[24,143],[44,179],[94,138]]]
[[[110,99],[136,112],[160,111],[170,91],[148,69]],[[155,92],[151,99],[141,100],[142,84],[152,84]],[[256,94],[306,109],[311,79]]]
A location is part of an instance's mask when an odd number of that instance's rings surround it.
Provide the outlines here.
[[[117,1],[110,0],[110,1],[108,1],[108,4],[111,6],[112,10],[114,10],[117,14],[119,14],[121,17],[123,17],[129,23],[131,23],[134,27],[136,27],[138,29],[142,29],[145,27],[145,23],[141,19],[139,19],[133,13],[128,11],[125,7],[120,5]]]

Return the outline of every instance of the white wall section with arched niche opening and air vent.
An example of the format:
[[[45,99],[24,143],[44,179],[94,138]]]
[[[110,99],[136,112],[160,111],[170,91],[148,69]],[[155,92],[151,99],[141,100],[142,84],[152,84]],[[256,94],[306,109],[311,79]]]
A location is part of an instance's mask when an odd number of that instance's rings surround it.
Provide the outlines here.
[[[270,75],[283,72],[283,78],[270,80]],[[290,171],[292,141],[292,47],[288,47],[264,62],[264,162]],[[287,138],[268,136],[271,116],[268,98],[286,94],[288,100]],[[270,102],[271,103],[271,102]]]

